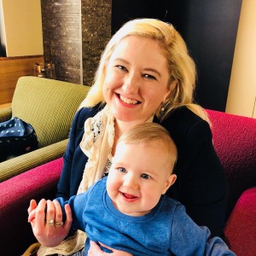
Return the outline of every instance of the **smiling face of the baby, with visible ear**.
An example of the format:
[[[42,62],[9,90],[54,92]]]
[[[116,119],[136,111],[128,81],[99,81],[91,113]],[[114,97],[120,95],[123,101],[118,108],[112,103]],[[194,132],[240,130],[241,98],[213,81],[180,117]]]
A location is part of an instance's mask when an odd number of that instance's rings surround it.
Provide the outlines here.
[[[113,205],[127,215],[142,216],[176,180],[163,143],[121,142],[108,173],[107,190]]]

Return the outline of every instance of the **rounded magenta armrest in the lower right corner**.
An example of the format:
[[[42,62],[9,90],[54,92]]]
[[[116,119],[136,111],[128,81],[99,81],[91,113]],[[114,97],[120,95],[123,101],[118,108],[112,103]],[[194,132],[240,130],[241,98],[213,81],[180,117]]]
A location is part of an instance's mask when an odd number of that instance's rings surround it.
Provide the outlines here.
[[[230,249],[237,255],[256,255],[256,187],[242,193],[224,234]]]

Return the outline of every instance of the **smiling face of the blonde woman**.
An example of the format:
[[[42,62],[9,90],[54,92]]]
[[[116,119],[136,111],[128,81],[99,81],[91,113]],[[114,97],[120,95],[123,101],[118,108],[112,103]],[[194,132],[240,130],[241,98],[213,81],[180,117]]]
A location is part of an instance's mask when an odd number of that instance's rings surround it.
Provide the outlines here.
[[[169,73],[160,44],[148,38],[123,38],[108,64],[103,95],[119,121],[143,123],[169,94]]]

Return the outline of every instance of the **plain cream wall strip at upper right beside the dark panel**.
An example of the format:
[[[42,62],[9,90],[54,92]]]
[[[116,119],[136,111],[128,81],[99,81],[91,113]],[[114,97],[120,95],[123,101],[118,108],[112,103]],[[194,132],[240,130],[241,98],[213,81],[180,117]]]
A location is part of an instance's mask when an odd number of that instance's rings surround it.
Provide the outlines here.
[[[256,118],[256,1],[241,5],[227,113]]]

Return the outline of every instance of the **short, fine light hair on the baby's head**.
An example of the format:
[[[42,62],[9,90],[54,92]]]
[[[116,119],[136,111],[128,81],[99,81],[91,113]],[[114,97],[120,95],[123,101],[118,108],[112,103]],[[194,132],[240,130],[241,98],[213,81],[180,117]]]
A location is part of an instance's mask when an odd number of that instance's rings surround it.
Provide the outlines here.
[[[132,126],[119,137],[118,143],[162,143],[163,150],[170,155],[172,166],[177,161],[177,147],[170,133],[163,126],[156,123],[143,123]]]

